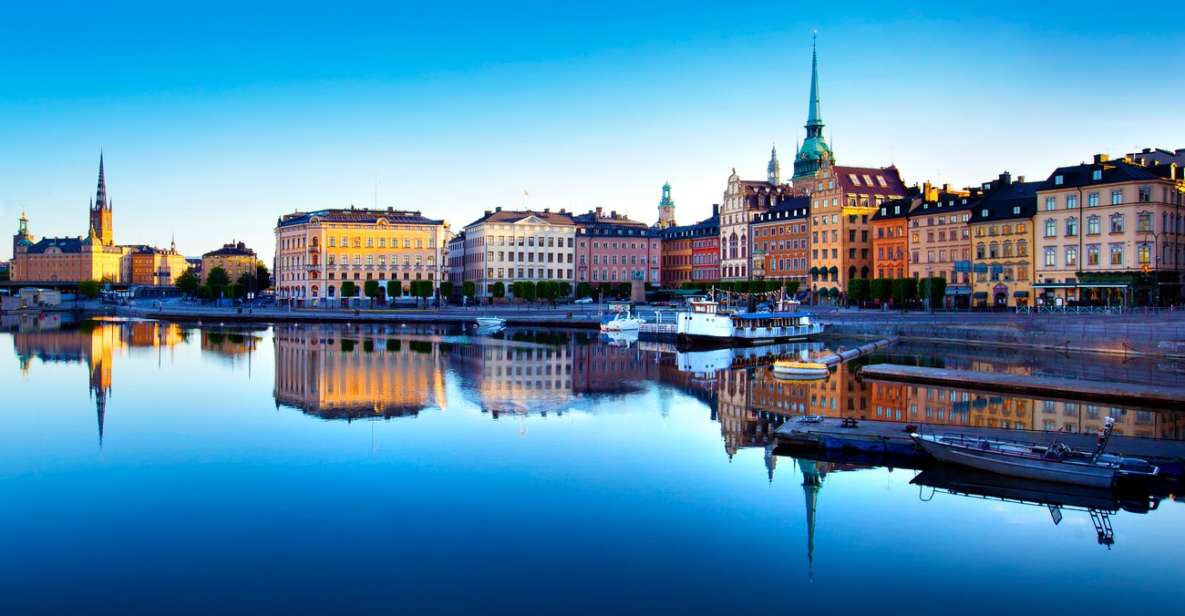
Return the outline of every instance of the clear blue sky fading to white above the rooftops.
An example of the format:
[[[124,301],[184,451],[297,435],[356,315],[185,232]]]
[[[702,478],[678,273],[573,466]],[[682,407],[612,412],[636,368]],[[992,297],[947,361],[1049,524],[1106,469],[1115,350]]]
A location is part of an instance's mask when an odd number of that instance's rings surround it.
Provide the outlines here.
[[[24,2],[0,18],[0,229],[269,258],[293,210],[680,223],[789,174],[819,31],[840,163],[908,184],[1185,147],[1185,23],[1115,2]],[[5,240],[0,258],[11,254]]]

